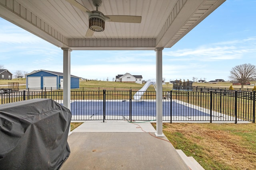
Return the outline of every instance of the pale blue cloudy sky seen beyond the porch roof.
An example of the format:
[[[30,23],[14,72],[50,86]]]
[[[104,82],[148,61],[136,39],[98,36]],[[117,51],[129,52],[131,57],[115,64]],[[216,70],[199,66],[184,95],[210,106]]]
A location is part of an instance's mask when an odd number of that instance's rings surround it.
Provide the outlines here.
[[[172,48],[163,50],[168,80],[229,80],[232,67],[256,65],[256,0],[226,0]],[[63,72],[62,49],[0,18],[0,64],[16,70]],[[92,57],[94,56],[94,57]],[[156,78],[155,51],[72,51],[71,74],[112,81],[117,74]]]

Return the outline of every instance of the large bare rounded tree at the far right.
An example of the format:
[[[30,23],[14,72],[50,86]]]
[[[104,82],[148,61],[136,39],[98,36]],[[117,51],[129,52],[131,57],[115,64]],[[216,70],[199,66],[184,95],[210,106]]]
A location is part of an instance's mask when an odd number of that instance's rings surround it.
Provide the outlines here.
[[[241,88],[244,88],[246,82],[256,78],[256,66],[252,64],[237,65],[230,70],[229,78],[239,82]]]

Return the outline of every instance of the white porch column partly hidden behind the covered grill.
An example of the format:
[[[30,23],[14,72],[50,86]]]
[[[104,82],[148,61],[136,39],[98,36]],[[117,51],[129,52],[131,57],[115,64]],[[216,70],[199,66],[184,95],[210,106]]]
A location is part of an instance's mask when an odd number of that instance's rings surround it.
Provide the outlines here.
[[[70,109],[70,50],[69,48],[62,48],[63,50],[63,106]],[[69,133],[70,135],[70,127]]]

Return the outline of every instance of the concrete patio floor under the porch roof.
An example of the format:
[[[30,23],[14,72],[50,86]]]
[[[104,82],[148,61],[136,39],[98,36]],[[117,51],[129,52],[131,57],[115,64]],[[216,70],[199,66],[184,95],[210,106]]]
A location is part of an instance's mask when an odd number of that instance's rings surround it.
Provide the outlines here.
[[[189,170],[150,122],[86,121],[68,137],[70,156],[61,170]],[[164,140],[163,140],[164,139]]]

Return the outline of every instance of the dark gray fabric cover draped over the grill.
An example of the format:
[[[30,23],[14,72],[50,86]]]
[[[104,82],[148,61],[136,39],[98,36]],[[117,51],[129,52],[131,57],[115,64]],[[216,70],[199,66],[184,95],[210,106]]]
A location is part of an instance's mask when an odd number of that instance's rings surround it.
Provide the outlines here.
[[[59,169],[70,154],[70,120],[51,99],[0,105],[0,169]]]

